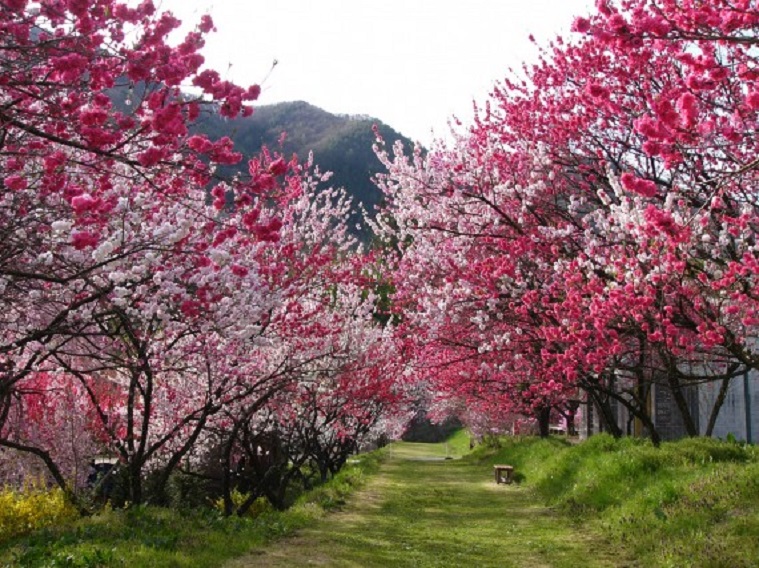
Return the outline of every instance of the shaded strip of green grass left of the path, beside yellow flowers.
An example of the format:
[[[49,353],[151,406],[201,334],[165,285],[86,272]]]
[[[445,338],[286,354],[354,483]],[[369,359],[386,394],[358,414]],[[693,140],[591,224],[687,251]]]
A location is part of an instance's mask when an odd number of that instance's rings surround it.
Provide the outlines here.
[[[345,503],[385,452],[361,456],[284,512],[224,518],[214,509],[107,510],[0,543],[0,566],[211,567],[313,524]]]

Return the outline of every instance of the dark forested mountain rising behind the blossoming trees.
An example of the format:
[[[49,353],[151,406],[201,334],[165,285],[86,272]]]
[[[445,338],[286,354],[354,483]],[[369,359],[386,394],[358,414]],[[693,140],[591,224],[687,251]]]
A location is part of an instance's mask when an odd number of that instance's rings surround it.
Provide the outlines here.
[[[229,136],[235,149],[246,157],[256,154],[262,146],[286,157],[297,154],[301,160],[313,151],[320,170],[333,172],[329,184],[344,187],[354,201],[372,212],[382,197],[371,181],[382,171],[372,151],[375,124],[388,145],[402,140],[411,148],[408,138],[376,119],[335,115],[303,101],[258,106],[248,118],[207,116],[201,119],[198,129],[212,138]],[[280,145],[282,133],[285,138]]]

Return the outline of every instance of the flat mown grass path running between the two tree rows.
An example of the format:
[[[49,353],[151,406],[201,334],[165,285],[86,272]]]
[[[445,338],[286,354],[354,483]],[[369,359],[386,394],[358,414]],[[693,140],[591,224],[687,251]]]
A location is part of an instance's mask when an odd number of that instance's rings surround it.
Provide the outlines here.
[[[625,566],[610,545],[497,486],[442,445],[398,443],[368,485],[315,526],[228,566]]]

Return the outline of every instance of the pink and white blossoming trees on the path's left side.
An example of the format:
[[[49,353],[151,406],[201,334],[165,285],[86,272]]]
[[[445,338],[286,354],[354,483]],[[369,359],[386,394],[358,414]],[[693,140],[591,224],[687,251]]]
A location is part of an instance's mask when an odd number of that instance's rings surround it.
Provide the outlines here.
[[[345,194],[268,151],[217,175],[243,156],[190,127],[260,88],[203,69],[208,16],[178,25],[150,0],[0,2],[2,476],[74,496],[105,454],[140,503],[216,459],[228,512],[240,486],[281,505],[403,415],[393,351]]]

